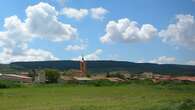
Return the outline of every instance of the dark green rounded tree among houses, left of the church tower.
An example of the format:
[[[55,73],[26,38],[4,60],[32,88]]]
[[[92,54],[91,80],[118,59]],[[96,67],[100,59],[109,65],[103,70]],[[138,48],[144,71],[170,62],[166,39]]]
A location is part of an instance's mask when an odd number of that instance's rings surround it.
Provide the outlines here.
[[[60,78],[60,73],[54,69],[46,69],[45,76],[48,83],[57,83]]]

